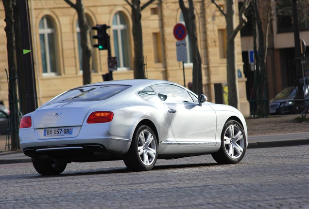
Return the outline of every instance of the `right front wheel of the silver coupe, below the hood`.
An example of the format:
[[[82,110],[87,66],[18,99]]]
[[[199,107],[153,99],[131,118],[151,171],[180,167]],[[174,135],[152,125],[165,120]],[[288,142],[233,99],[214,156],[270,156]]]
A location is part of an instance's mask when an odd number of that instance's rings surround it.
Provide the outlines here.
[[[221,134],[221,148],[213,153],[219,164],[236,164],[246,152],[246,138],[242,126],[235,120],[227,120]]]

